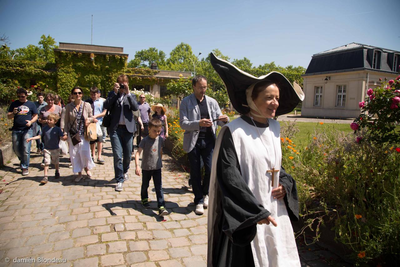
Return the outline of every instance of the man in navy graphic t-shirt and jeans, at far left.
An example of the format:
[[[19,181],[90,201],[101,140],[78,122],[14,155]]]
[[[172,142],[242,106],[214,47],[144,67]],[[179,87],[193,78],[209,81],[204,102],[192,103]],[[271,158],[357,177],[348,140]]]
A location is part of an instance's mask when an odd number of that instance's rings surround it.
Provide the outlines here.
[[[17,89],[18,101],[11,103],[7,118],[14,120],[12,126],[12,148],[20,160],[22,175],[29,174],[30,145],[26,142],[32,137],[32,123],[38,119],[38,110],[32,101],[26,99],[28,92],[24,88]]]

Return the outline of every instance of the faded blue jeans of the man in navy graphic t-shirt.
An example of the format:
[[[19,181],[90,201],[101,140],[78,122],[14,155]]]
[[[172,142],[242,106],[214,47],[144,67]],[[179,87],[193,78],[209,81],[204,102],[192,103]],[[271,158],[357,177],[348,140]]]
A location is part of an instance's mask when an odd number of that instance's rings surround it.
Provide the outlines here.
[[[28,169],[30,159],[30,145],[32,141],[26,142],[28,138],[31,138],[33,130],[13,130],[12,131],[12,149],[17,155],[18,160],[21,162],[22,169]]]

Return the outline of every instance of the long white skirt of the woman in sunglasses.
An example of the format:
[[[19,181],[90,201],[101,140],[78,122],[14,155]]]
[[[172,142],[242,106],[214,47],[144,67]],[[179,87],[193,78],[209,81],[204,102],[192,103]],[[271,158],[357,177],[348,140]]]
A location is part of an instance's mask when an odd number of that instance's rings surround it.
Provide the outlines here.
[[[89,170],[92,170],[95,167],[90,152],[89,141],[86,140],[84,136],[80,136],[80,140],[81,142],[74,146],[72,144],[70,136],[68,135],[68,146],[72,164],[72,171],[74,172],[74,174],[82,172],[83,168],[85,167],[88,167]]]

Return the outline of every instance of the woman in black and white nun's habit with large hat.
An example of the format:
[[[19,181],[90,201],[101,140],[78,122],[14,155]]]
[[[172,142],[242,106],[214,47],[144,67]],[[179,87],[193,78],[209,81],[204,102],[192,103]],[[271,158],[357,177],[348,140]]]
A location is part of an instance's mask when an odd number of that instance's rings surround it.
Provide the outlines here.
[[[214,149],[207,265],[300,266],[290,223],[298,220],[296,181],[281,167],[272,117],[292,111],[304,94],[278,72],[256,78],[213,53],[210,60],[242,115],[222,127]]]

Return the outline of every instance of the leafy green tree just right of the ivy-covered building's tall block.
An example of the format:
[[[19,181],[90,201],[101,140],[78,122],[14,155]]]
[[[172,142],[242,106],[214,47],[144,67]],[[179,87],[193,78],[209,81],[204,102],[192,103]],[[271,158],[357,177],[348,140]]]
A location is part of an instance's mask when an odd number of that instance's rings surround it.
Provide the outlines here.
[[[129,61],[129,68],[150,68],[152,63],[156,63],[158,69],[163,69],[165,67],[165,53],[164,51],[156,49],[155,47],[150,47],[149,49],[143,49],[137,51],[135,58]]]

